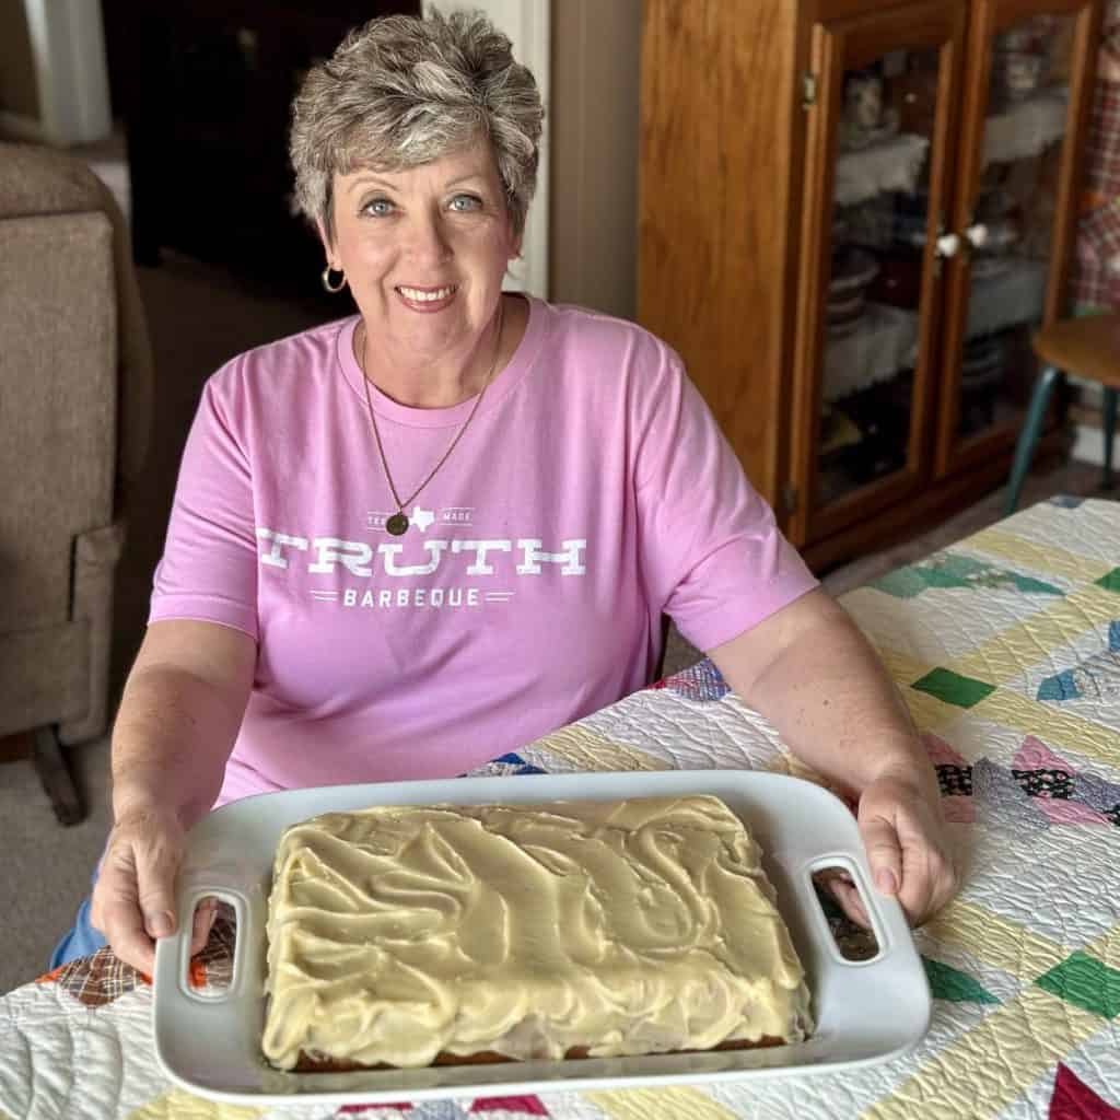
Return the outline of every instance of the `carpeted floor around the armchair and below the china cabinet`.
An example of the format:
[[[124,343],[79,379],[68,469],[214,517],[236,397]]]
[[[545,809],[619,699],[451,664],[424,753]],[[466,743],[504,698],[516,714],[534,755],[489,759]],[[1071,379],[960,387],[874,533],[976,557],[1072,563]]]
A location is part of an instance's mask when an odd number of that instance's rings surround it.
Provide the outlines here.
[[[321,305],[246,290],[223,270],[168,256],[140,269],[157,371],[157,410],[148,472],[131,515],[116,582],[113,694],[116,696],[143,632],[151,573],[162,548],[175,476],[187,429],[206,377],[251,346],[332,317]],[[345,314],[339,310],[338,314]],[[1024,504],[1055,493],[1094,493],[1100,472],[1072,464],[1028,482]],[[1000,495],[906,544],[838,569],[825,578],[836,594],[967,535],[1000,515]],[[697,652],[675,632],[666,669],[691,664]],[[7,841],[0,894],[0,991],[34,979],[71,924],[109,830],[108,738],[73,752],[72,763],[88,806],[86,820],[59,828],[27,762],[0,765],[0,821]]]

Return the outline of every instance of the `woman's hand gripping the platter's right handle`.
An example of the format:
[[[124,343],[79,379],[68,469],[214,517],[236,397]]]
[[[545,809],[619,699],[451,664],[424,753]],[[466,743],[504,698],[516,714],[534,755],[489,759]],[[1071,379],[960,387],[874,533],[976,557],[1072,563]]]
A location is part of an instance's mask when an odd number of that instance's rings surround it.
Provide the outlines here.
[[[880,894],[894,895],[921,925],[956,893],[959,879],[940,805],[905,778],[872,781],[859,799],[859,833]]]

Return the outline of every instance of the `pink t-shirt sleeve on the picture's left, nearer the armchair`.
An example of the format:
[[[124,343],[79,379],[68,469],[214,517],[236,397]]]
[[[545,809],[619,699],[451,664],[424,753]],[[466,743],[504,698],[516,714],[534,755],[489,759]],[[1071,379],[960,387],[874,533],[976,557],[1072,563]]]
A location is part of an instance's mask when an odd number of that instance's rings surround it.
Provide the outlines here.
[[[179,467],[149,622],[189,618],[258,637],[256,536],[235,366],[203,391]]]

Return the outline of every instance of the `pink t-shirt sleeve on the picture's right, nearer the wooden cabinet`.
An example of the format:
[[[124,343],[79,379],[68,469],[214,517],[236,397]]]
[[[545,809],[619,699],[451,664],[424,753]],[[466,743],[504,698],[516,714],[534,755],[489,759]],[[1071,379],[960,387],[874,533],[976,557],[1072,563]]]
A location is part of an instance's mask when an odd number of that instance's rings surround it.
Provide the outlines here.
[[[635,445],[647,595],[712,650],[818,586],[665,347]]]

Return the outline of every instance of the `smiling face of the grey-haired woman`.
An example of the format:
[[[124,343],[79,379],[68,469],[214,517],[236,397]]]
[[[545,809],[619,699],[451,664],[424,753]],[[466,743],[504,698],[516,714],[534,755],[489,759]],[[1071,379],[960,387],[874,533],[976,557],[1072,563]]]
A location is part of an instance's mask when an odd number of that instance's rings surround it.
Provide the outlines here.
[[[432,356],[477,340],[521,248],[487,142],[409,170],[335,175],[334,215],[327,259],[371,338]]]

